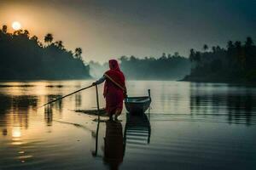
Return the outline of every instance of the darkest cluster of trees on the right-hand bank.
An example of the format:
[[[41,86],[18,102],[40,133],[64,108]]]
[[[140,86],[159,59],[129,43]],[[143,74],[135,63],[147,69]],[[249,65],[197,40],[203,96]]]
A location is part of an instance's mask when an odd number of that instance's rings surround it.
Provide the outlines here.
[[[190,50],[190,75],[184,80],[195,82],[256,82],[256,46],[247,37],[244,44],[229,41],[227,48],[212,47],[204,52]]]

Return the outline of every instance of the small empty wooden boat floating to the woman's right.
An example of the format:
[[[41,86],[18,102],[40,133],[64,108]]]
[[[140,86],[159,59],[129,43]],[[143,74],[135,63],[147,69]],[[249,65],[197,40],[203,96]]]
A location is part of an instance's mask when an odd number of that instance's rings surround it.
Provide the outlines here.
[[[150,89],[148,89],[148,96],[125,98],[125,108],[131,114],[143,114],[148,110],[150,103]]]

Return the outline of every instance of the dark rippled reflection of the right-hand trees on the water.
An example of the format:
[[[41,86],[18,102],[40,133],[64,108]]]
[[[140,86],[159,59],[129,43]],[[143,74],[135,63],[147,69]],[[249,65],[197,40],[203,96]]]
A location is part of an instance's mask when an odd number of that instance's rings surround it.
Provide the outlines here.
[[[190,85],[191,116],[216,116],[219,120],[225,118],[225,122],[251,125],[255,105],[255,96],[247,90],[230,88],[221,92],[213,85],[207,88],[199,83]]]

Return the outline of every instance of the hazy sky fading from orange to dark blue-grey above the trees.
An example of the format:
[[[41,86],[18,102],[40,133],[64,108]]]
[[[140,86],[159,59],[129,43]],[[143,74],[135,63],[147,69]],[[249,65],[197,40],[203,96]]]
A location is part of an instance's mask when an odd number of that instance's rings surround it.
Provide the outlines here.
[[[160,57],[204,44],[256,41],[256,0],[0,0],[0,26],[17,20],[41,41],[52,33],[85,61]]]

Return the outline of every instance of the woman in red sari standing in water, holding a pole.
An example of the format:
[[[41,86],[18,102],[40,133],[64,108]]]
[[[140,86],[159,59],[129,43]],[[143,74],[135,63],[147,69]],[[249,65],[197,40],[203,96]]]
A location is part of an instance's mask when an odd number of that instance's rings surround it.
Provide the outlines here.
[[[125,76],[119,69],[116,59],[108,61],[109,70],[106,71],[102,78],[93,82],[93,85],[100,84],[105,81],[103,96],[106,99],[106,111],[109,119],[118,120],[118,116],[123,110],[123,99],[126,97]]]

